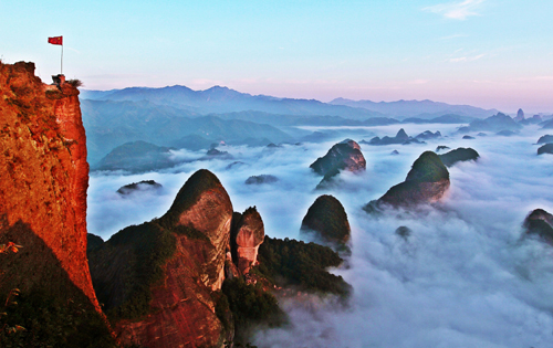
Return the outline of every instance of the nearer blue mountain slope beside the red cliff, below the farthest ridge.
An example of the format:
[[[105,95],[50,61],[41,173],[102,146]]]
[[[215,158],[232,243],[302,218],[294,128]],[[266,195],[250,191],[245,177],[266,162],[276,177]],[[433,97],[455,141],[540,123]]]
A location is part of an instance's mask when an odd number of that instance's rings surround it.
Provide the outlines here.
[[[88,162],[94,165],[113,148],[143,140],[158,146],[190,141],[255,144],[291,141],[286,133],[265,124],[194,113],[150,102],[82,101]],[[192,117],[191,117],[192,116]]]

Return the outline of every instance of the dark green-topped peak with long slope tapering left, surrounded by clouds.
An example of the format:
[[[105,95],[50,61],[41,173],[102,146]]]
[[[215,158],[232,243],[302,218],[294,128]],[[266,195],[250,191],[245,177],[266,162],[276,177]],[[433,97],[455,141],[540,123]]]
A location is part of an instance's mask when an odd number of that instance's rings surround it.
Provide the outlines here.
[[[384,205],[411,207],[432,203],[444,197],[449,189],[449,172],[438,155],[425,151],[413,164],[404,182],[392,187],[383,197],[365,205],[367,212]]]

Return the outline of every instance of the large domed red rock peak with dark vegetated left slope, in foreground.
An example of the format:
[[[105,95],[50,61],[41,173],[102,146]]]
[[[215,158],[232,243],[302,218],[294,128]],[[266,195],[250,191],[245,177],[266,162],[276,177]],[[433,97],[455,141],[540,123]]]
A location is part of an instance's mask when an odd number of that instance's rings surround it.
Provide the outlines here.
[[[202,169],[165,215],[117,232],[88,254],[98,298],[122,342],[220,347],[232,339],[216,314],[231,220],[227,191]]]

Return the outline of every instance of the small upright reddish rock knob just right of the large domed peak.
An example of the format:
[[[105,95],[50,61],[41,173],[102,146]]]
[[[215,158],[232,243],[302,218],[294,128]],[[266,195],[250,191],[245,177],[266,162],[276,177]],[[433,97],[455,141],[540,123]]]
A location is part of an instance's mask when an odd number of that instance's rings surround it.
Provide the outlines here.
[[[265,230],[263,220],[255,207],[242,214],[234,212],[232,218],[231,250],[232,259],[240,274],[247,274],[258,261],[259,245],[263,243]]]

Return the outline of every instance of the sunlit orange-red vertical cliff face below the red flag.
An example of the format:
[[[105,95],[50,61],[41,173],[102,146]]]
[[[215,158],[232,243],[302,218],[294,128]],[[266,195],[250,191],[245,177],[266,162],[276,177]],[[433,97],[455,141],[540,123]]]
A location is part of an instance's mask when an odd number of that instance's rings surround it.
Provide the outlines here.
[[[13,264],[0,265],[19,267],[3,273],[0,286],[55,283],[41,264],[46,250],[100,312],[86,260],[88,165],[79,91],[43,84],[33,63],[0,64],[0,238],[23,245]]]

